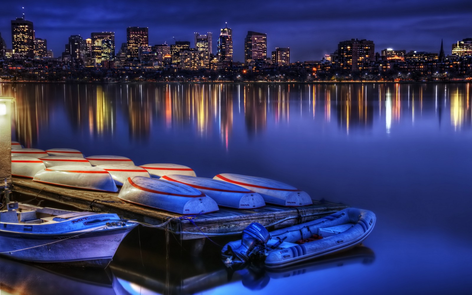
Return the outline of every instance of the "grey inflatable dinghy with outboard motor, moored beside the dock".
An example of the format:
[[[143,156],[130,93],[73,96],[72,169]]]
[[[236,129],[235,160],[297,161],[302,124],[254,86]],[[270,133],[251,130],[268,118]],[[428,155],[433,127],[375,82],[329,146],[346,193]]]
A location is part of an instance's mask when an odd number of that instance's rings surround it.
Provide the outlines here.
[[[242,240],[229,242],[221,254],[227,264],[263,260],[268,268],[284,267],[361,244],[374,228],[375,220],[371,211],[346,208],[271,232],[253,222],[244,229]]]

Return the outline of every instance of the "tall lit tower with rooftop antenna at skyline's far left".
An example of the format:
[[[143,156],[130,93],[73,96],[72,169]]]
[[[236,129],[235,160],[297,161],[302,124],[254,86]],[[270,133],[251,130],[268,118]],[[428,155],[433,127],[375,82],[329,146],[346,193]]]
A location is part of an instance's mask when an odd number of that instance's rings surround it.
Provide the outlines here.
[[[19,17],[11,21],[12,49],[21,58],[34,58],[34,30],[33,23]]]

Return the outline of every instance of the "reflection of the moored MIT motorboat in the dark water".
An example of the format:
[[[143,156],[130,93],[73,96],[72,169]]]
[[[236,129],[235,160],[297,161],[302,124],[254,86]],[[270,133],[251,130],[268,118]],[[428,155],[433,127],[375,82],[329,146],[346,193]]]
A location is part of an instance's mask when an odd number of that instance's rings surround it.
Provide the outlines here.
[[[34,264],[0,258],[1,290],[22,295],[126,294],[109,270]]]

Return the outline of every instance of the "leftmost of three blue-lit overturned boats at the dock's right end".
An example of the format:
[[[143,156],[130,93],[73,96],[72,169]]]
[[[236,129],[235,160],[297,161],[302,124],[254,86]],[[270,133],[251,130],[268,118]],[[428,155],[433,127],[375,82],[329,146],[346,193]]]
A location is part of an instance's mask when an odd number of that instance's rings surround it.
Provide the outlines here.
[[[183,215],[219,210],[213,199],[191,186],[149,177],[129,177],[123,184],[118,198],[133,204]]]

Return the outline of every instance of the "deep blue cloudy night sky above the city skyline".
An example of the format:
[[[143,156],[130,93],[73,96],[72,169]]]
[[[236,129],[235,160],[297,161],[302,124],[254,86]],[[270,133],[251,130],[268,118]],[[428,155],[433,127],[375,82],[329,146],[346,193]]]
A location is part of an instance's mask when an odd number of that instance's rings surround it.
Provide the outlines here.
[[[24,7],[24,9],[22,8]],[[276,1],[9,1],[2,0],[0,33],[11,48],[10,21],[32,21],[37,38],[59,57],[70,35],[115,32],[118,52],[126,27],[149,27],[150,45],[190,41],[194,32],[213,33],[216,53],[219,30],[233,29],[234,61],[244,62],[247,31],[267,34],[268,56],[275,47],[290,47],[290,61],[320,60],[340,41],[372,40],[385,48],[446,54],[452,43],[472,37],[471,0],[276,0]]]

